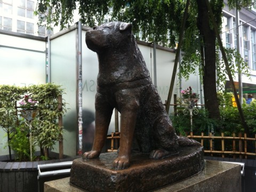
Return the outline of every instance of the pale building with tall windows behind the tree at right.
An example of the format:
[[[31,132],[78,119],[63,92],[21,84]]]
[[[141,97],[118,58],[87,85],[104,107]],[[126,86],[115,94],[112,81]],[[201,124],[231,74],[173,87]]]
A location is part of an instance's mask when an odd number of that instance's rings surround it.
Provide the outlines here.
[[[236,22],[236,18],[238,22]],[[238,28],[236,23],[238,23]],[[237,31],[238,29],[238,31]],[[255,9],[242,9],[237,13],[235,9],[229,10],[227,1],[223,8],[222,18],[222,43],[227,48],[237,50],[249,67],[251,78],[242,75],[243,98],[252,100],[256,98],[256,12]],[[239,42],[237,42],[237,37]],[[238,77],[234,78],[238,90]],[[231,84],[227,81],[226,91],[232,91]]]

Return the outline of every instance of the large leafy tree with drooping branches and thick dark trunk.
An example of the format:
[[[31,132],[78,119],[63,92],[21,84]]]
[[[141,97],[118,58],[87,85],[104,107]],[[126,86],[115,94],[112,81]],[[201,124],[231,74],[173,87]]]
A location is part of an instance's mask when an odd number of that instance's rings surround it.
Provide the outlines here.
[[[229,0],[228,3],[230,8],[241,9],[251,1],[242,0],[237,4],[236,0]],[[135,35],[138,36],[139,31],[142,31],[142,38],[146,41],[175,47],[185,4],[183,0],[41,0],[38,2],[35,13],[45,13],[45,17],[41,17],[39,24],[44,24],[47,28],[51,28],[52,25],[65,28],[73,21],[73,11],[77,5],[81,21],[93,27],[95,22],[103,21],[104,15],[109,13],[109,7],[111,7],[112,19],[132,23]],[[210,4],[215,21],[220,28],[223,0],[211,0]],[[209,111],[209,117],[219,119],[217,89],[213,87],[217,87],[216,82],[225,81],[226,76],[223,76],[223,66],[216,67],[216,63],[221,62],[217,62],[216,59],[218,55],[216,54],[218,48],[216,35],[205,0],[190,1],[188,15],[182,46],[185,57],[180,74],[188,77],[199,67],[204,85],[205,108]],[[232,58],[231,55],[229,58]],[[245,66],[245,63],[242,62],[241,65]],[[244,66],[242,69],[245,69]],[[219,71],[218,81],[216,70]]]

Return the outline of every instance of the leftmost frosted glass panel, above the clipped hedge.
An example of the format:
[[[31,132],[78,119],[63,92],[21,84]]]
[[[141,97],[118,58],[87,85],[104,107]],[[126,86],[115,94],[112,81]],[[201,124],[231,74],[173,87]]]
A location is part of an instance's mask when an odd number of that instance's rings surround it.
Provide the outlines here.
[[[0,58],[0,84],[45,83],[45,42],[0,34]]]

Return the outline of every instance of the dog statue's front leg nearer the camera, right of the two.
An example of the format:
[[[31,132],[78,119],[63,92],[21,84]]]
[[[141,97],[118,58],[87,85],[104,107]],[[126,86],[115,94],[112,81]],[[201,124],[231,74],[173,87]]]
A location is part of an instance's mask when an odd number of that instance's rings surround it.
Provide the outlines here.
[[[117,170],[122,170],[129,167],[137,111],[124,110],[121,114],[121,139],[119,154],[113,162],[113,167]]]

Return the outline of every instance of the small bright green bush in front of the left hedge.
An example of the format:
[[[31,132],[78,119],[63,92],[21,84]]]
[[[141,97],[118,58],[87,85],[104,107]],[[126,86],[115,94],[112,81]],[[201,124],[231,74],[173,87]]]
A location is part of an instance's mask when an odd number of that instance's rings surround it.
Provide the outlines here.
[[[30,141],[28,135],[29,129],[24,125],[16,127],[15,131],[10,134],[12,138],[10,146],[14,151],[15,161],[30,161]],[[34,154],[35,146],[33,145],[32,148],[32,154]]]

